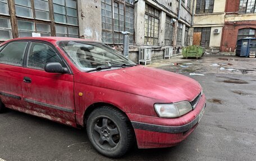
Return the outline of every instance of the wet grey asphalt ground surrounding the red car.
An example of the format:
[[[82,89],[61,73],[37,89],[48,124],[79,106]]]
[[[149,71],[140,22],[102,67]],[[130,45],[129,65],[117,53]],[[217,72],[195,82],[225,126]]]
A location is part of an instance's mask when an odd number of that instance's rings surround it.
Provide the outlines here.
[[[203,86],[205,114],[181,144],[134,148],[123,158],[109,159],[93,149],[83,130],[10,110],[0,115],[0,160],[256,160],[256,58],[175,57],[149,66]]]

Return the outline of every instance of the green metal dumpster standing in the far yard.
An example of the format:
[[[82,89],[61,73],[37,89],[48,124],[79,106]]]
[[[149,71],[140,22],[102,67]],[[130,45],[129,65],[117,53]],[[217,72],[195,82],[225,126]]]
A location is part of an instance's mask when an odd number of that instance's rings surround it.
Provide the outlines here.
[[[204,56],[205,49],[197,45],[192,45],[182,49],[182,56],[184,58],[201,58]]]

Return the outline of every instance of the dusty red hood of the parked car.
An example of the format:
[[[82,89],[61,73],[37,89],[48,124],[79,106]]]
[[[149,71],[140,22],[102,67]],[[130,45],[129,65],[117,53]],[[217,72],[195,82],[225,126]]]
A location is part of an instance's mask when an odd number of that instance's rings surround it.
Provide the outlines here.
[[[193,100],[202,90],[200,84],[189,77],[135,66],[118,70],[90,72],[92,85],[142,95],[163,102]]]

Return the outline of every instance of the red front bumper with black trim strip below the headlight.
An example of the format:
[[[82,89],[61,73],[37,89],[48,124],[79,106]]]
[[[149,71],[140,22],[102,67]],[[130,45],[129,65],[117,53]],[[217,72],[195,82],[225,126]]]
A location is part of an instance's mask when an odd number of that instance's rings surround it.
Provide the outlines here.
[[[175,146],[185,140],[198,125],[205,108],[205,96],[196,108],[179,118],[159,118],[127,114],[134,127],[139,148],[163,148]]]

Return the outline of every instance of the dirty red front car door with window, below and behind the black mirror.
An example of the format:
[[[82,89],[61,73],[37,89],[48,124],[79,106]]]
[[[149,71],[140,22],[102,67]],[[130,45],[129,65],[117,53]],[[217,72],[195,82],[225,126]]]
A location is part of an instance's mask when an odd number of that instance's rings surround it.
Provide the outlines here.
[[[60,62],[68,68],[52,44],[31,41],[26,70],[22,73],[26,108],[34,115],[75,126],[73,75],[70,70],[69,73],[45,72],[44,66],[49,62]]]

